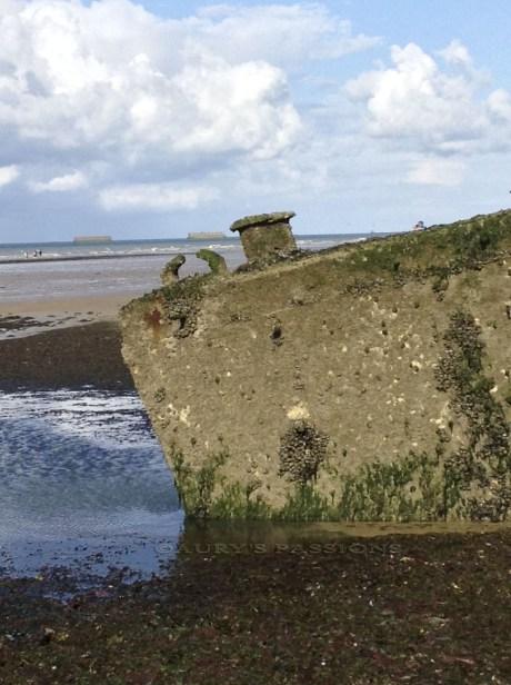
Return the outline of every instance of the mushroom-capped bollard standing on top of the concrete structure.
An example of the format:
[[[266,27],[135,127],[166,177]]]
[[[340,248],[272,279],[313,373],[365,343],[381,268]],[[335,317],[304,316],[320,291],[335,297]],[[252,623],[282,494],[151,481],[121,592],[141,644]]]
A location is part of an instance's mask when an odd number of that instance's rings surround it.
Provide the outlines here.
[[[253,215],[234,221],[231,231],[239,231],[249,261],[285,257],[297,250],[289,220],[294,211]]]

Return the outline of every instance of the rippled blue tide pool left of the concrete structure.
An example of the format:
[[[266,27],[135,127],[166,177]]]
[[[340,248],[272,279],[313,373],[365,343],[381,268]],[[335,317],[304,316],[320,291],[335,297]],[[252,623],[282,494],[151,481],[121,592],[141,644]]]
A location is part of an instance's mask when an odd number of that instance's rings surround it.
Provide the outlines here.
[[[0,393],[0,575],[160,573],[183,513],[136,394]]]

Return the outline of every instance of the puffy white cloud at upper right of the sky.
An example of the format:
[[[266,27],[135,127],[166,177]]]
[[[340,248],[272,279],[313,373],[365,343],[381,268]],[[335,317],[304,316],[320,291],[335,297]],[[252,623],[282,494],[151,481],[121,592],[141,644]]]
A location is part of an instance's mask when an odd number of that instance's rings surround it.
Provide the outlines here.
[[[455,67],[470,61],[458,41],[443,57]],[[442,71],[419,46],[391,49],[393,67],[361,75],[348,95],[365,103],[368,132],[401,143],[412,140],[429,150],[469,150],[488,135],[485,103],[478,98],[479,78],[465,69]]]

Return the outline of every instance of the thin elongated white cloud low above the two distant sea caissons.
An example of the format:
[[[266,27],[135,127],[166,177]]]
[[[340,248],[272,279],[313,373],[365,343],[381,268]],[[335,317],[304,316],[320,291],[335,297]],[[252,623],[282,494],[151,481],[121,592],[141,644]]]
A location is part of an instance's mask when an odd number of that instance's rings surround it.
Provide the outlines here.
[[[134,183],[106,188],[100,201],[109,211],[197,209],[217,197],[213,188],[180,183]]]

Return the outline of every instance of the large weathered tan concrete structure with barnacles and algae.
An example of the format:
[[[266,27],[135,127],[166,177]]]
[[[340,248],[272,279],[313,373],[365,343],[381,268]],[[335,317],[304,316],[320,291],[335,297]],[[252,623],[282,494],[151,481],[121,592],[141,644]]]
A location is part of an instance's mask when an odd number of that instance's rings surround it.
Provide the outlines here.
[[[123,355],[190,515],[503,520],[510,307],[508,210],[182,279]]]

